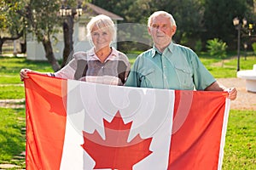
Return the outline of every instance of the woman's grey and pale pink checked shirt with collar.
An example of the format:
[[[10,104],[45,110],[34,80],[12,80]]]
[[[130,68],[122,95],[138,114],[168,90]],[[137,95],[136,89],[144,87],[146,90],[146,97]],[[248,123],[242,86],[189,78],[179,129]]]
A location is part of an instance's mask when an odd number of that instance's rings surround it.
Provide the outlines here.
[[[127,56],[113,47],[104,63],[98,59],[94,48],[91,48],[89,51],[73,54],[73,59],[55,72],[54,76],[122,86],[128,77],[130,66]]]

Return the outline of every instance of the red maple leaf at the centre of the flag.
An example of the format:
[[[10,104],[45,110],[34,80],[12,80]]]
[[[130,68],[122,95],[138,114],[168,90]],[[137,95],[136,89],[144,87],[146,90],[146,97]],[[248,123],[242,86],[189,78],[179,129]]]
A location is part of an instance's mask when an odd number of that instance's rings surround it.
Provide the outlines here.
[[[149,150],[152,138],[142,139],[139,134],[127,143],[131,123],[125,124],[119,111],[112,122],[103,119],[106,139],[102,139],[97,131],[84,134],[84,144],[81,146],[96,161],[95,169],[132,169],[132,166],[152,151]]]

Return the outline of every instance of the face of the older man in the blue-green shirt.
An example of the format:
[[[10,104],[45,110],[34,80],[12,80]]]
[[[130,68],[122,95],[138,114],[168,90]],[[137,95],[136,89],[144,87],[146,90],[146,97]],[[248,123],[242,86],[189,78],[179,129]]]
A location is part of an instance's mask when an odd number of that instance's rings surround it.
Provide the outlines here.
[[[153,38],[157,48],[166,48],[172,42],[172,36],[176,31],[176,26],[171,26],[171,21],[165,16],[153,18],[148,33]]]

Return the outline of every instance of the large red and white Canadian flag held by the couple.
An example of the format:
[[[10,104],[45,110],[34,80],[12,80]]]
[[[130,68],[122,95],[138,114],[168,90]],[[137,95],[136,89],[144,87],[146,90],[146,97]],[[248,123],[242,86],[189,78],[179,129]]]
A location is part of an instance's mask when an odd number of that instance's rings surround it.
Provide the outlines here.
[[[29,77],[26,169],[221,169],[225,92]]]

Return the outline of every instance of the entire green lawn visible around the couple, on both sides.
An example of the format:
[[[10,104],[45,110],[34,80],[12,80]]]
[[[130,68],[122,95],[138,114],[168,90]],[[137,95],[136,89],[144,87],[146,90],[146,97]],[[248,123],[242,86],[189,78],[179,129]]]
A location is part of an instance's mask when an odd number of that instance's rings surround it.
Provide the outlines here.
[[[140,52],[128,54],[131,65]],[[199,57],[214,77],[236,77],[236,57],[215,59],[207,54]],[[251,70],[256,57],[241,57],[241,70]],[[23,82],[20,82],[21,68],[36,71],[52,71],[48,62],[27,61],[25,58],[0,57],[0,99],[24,99]],[[24,105],[24,103],[21,103]],[[0,164],[13,163],[25,168],[25,109],[0,107]],[[230,111],[226,143],[224,147],[224,170],[256,169],[256,111]]]

